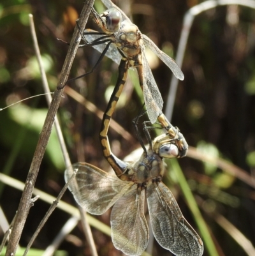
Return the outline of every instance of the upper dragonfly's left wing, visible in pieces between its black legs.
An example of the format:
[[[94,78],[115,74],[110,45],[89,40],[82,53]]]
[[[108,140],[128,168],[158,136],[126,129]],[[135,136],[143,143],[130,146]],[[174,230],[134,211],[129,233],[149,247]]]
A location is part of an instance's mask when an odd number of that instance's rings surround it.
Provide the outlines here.
[[[91,32],[90,30],[85,29],[85,32]],[[87,41],[91,42],[94,41],[95,39],[99,38],[102,35],[97,35],[97,34],[85,34],[85,38]],[[105,50],[107,43],[101,43],[101,45],[93,45],[92,47],[96,50],[98,50],[98,52],[103,52],[103,50]],[[112,59],[115,63],[117,63],[119,65],[120,60],[121,60],[121,55],[119,53],[119,51],[117,50],[117,47],[115,47],[115,45],[113,43],[110,44],[109,49],[107,50],[106,57]]]

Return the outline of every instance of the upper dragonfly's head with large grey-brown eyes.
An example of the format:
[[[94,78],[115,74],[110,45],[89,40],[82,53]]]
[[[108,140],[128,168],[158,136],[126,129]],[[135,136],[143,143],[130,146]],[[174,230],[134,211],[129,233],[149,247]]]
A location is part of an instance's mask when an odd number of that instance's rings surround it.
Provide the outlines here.
[[[108,33],[115,33],[119,31],[122,22],[121,13],[115,8],[104,11],[101,14],[105,30]]]

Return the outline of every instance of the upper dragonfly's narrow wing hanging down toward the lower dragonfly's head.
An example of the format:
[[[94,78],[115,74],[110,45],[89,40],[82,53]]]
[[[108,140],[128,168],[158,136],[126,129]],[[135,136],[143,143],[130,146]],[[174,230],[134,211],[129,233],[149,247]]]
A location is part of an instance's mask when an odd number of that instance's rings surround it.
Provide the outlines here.
[[[163,99],[150,70],[144,51],[142,54],[144,75],[143,95],[150,122],[153,124],[156,122],[157,117],[162,113]]]

